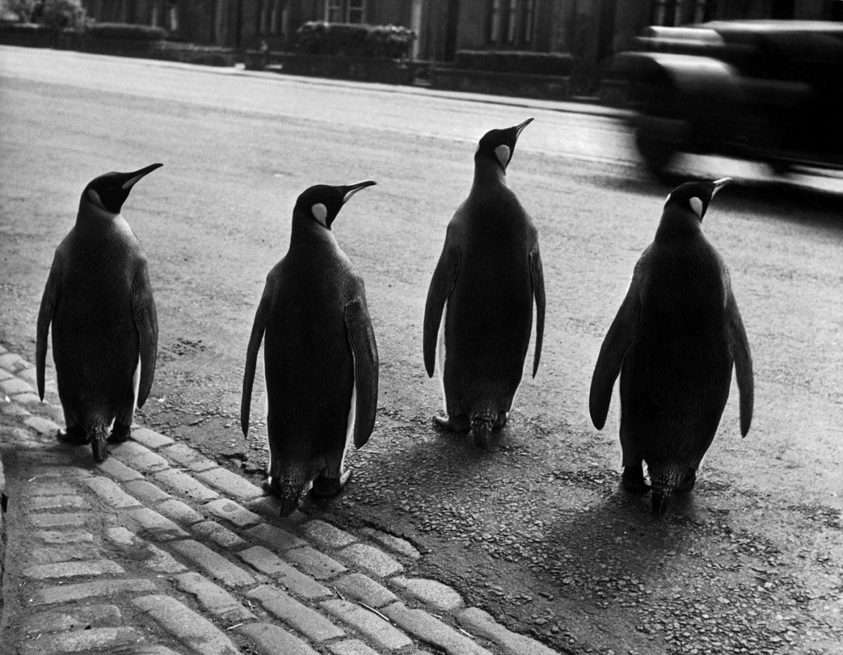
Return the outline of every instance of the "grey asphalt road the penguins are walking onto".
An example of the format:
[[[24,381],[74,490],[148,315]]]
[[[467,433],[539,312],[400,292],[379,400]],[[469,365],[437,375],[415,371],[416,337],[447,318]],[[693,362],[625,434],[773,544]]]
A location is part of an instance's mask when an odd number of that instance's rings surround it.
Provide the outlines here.
[[[588,383],[669,187],[602,113],[0,47],[0,339],[33,357],[83,186],[163,162],[124,207],[160,325],[139,419],[260,480],[264,427],[243,438],[237,416],[264,277],[303,189],[377,180],[334,231],[367,285],[379,421],[344,497],[321,507],[412,540],[428,552],[420,574],[560,652],[843,652],[843,181],[683,164],[740,178],[704,228],[732,271],[755,413],[742,440],[733,384],[696,491],[654,521],[617,487],[617,396],[596,432]],[[431,425],[421,319],[476,140],[528,115],[508,177],[539,228],[545,347],[479,452]]]

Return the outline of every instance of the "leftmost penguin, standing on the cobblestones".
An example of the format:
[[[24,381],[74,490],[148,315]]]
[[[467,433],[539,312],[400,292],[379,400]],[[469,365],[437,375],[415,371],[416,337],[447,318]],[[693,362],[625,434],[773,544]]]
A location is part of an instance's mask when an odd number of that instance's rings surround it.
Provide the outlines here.
[[[44,400],[47,336],[66,431],[64,443],[90,443],[94,460],[106,442],[132,432],[137,407],[155,375],[158,318],[147,257],[121,215],[132,187],[164,164],[107,173],[82,192],[76,223],[56,248],[38,312],[35,366]]]

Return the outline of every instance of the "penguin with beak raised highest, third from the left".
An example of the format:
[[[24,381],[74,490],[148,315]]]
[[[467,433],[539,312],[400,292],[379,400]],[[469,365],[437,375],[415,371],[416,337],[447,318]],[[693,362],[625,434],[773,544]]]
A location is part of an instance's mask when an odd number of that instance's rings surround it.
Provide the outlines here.
[[[503,427],[524,372],[535,303],[533,377],[545,330],[545,279],[538,232],[507,185],[507,166],[528,118],[491,130],[475,151],[469,196],[448,223],[427,291],[423,351],[438,368],[446,430],[471,431],[487,448]],[[438,364],[435,367],[435,360]]]

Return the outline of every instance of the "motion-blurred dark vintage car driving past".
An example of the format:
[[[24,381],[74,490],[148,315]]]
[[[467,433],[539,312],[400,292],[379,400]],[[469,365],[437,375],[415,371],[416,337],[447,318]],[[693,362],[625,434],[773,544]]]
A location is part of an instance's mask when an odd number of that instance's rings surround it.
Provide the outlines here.
[[[674,153],[843,169],[843,23],[648,27],[615,57],[653,173]]]

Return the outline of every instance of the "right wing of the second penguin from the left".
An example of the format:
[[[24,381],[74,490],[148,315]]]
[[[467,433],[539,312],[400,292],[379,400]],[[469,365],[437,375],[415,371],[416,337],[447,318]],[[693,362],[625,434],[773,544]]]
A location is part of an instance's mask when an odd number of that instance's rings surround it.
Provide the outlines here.
[[[361,448],[372,434],[375,412],[378,411],[378,345],[374,341],[372,319],[369,318],[364,297],[358,296],[346,303],[343,315],[348,342],[352,346],[354,389],[357,391],[354,446]]]

